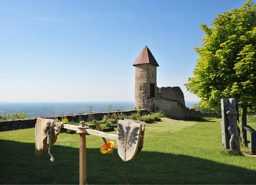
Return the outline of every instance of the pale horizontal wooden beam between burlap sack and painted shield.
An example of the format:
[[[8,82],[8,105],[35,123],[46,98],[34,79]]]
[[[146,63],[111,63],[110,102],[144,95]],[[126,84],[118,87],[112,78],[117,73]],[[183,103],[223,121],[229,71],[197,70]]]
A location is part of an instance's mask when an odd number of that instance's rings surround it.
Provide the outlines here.
[[[111,140],[117,140],[117,135],[111,134],[111,133],[106,133],[106,132],[100,132],[100,131],[95,131],[92,129],[88,129],[89,127],[81,127],[81,126],[75,126],[75,125],[69,125],[69,124],[63,124],[62,128],[70,129],[73,131],[77,131],[79,133],[87,133],[90,135],[95,135],[95,136],[100,136],[100,137],[105,137]]]

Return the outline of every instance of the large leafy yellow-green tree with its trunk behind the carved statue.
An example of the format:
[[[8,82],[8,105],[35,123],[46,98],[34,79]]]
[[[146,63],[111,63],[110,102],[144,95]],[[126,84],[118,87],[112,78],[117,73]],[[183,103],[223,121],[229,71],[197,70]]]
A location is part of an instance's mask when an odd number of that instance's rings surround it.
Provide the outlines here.
[[[236,98],[246,125],[247,108],[256,105],[256,4],[218,14],[211,27],[201,24],[203,44],[194,76],[185,84],[206,106],[220,106],[221,98]],[[242,144],[247,146],[245,129]]]

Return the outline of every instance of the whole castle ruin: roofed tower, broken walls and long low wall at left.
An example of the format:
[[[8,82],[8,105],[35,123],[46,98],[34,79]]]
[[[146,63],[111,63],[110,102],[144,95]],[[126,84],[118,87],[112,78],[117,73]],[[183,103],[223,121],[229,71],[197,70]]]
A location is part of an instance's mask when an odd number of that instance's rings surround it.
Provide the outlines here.
[[[134,62],[135,67],[135,107],[142,107],[141,114],[157,112],[162,110],[168,116],[174,118],[189,117],[215,117],[215,113],[201,113],[194,109],[189,109],[185,105],[184,95],[180,87],[157,87],[157,67],[159,67],[153,54],[147,46],[139,54]],[[123,113],[130,116],[137,110],[126,110]],[[118,111],[111,112],[118,113]],[[120,113],[120,112],[119,112]],[[102,120],[108,112],[94,113],[94,119]],[[87,120],[89,113],[68,114],[60,116],[43,117],[52,119],[57,117],[67,117],[69,121]],[[26,118],[20,120],[0,121],[0,131],[35,127],[37,118]]]

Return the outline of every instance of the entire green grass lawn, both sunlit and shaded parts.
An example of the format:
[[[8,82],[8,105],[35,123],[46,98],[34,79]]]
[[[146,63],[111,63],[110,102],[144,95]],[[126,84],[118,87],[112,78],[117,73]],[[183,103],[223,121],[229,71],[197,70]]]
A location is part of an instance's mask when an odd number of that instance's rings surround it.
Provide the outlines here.
[[[123,162],[117,149],[114,155],[129,184],[256,184],[256,158],[222,151],[220,121],[146,124],[138,158]],[[34,128],[0,132],[0,184],[79,184],[79,135],[61,133],[50,162],[48,152],[35,156],[34,134]],[[100,153],[102,144],[86,136],[88,184],[125,184],[112,157]]]

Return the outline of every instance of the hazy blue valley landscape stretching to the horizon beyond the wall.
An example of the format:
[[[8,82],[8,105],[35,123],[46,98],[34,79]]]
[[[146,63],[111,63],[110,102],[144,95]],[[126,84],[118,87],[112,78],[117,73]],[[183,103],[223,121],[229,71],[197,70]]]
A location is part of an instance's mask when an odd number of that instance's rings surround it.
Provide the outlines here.
[[[190,109],[196,102],[186,102]],[[0,103],[0,114],[14,114],[21,112],[28,117],[58,116],[66,114],[87,113],[89,106],[93,105],[92,112],[106,112],[108,105],[112,105],[111,111],[117,109],[133,110],[134,102],[47,102],[47,103]]]

